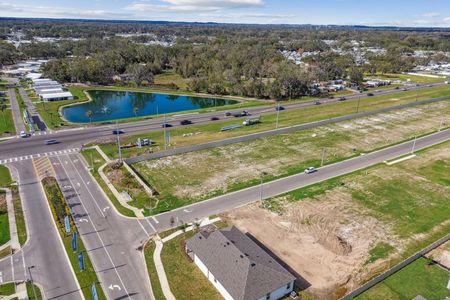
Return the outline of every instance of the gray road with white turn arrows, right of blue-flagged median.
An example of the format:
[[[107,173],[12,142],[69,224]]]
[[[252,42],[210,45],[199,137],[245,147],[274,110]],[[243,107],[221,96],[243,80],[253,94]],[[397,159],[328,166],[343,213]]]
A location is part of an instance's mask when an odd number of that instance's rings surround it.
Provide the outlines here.
[[[152,299],[139,251],[155,233],[150,221],[123,218],[111,209],[81,155],[68,154],[51,160],[108,299]]]

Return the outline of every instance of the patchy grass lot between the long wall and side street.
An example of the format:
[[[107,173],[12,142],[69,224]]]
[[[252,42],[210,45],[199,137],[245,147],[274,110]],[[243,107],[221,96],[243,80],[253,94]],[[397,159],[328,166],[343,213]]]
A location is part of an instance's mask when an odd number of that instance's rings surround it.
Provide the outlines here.
[[[416,109],[414,111],[415,116],[408,109],[394,111],[390,115],[376,115],[311,130],[141,162],[133,167],[159,193],[156,197],[160,199],[160,202],[153,213],[163,212],[257,185],[260,183],[263,172],[265,172],[263,181],[267,182],[298,174],[309,166],[320,166],[323,149],[325,149],[324,164],[331,164],[411,139],[414,134],[433,132],[438,128],[440,118],[436,118],[437,123],[432,123],[433,121],[430,121],[432,118],[426,115],[448,114],[450,102],[436,106],[428,105],[421,111]],[[404,115],[403,119],[399,117],[401,114]],[[448,167],[445,166],[443,164],[438,168],[439,174],[450,174],[447,172]],[[305,197],[320,196],[330,188],[342,184],[341,178],[335,178],[308,189],[295,191],[289,195],[288,199],[296,201]],[[405,187],[404,184],[400,182],[398,185],[393,185],[391,189],[397,188],[401,191],[401,188]],[[415,185],[413,183],[411,185],[413,189]],[[383,188],[384,186],[380,187],[380,194],[383,197],[394,192],[383,191]],[[399,197],[401,195],[400,193]],[[355,198],[357,196],[358,194],[354,195]],[[365,195],[359,198],[366,199]]]

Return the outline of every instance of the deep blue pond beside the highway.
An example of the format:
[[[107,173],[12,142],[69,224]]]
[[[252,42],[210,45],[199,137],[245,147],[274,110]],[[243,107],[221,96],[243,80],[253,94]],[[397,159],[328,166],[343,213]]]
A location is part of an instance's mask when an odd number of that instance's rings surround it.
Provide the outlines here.
[[[62,109],[66,120],[72,123],[88,123],[88,111],[93,112],[92,122],[104,122],[237,103],[234,100],[126,91],[93,90],[89,91],[89,94],[91,102]]]

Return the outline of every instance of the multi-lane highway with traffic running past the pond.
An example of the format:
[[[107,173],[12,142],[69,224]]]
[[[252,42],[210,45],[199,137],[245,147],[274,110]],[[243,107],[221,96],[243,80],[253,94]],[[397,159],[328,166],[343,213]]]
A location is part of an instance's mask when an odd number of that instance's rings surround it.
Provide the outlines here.
[[[437,84],[442,85],[442,84]],[[415,87],[419,89],[419,87]],[[428,87],[427,87],[428,88]],[[398,93],[398,90],[388,90],[380,92],[380,94],[389,94],[389,93]],[[364,94],[365,95],[365,94]],[[365,96],[367,98],[367,96]],[[358,96],[349,96],[347,97],[347,101],[353,99],[356,105],[356,99]],[[364,96],[361,98],[364,99]],[[337,99],[328,99],[321,100],[323,104],[335,103]],[[307,101],[307,102],[299,102],[293,103],[289,105],[285,105],[286,110],[289,109],[301,109],[306,107],[314,106],[315,101]],[[362,104],[361,104],[362,105]],[[248,109],[253,115],[263,115],[274,112],[274,106],[261,106],[255,108]],[[237,110],[236,110],[237,111]],[[209,112],[204,114],[193,114],[187,116],[178,116],[168,118],[167,122],[173,124],[174,127],[180,126],[179,121],[185,118],[189,118],[194,122],[194,124],[206,124],[211,121],[213,116],[220,116],[220,118],[224,119],[223,112]],[[228,119],[235,119],[234,117],[226,117]],[[242,119],[237,119],[236,122],[241,122]],[[139,121],[135,123],[129,124],[121,124],[120,128],[125,131],[125,135],[127,134],[138,134],[145,133],[150,131],[161,131],[161,124],[163,119],[152,119]],[[4,141],[0,144],[0,160],[11,157],[11,153],[14,153],[14,156],[25,156],[36,153],[45,153],[48,152],[49,149],[51,151],[59,151],[70,148],[79,148],[82,144],[91,142],[93,140],[101,140],[101,139],[112,139],[113,135],[111,130],[115,127],[115,125],[101,125],[96,127],[88,127],[88,128],[76,128],[71,130],[62,130],[59,132],[55,132],[47,135],[38,135],[32,136],[29,139],[12,139],[9,141]],[[52,145],[51,147],[45,146],[44,141],[47,139],[57,139],[60,143],[57,145]]]

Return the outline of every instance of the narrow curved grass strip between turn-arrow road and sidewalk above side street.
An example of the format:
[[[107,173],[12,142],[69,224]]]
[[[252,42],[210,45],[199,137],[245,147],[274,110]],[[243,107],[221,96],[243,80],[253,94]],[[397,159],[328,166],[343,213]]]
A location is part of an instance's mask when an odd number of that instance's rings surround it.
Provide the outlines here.
[[[97,181],[98,185],[102,188],[102,190],[105,192],[107,197],[111,200],[114,207],[124,216],[127,217],[135,217],[135,214],[133,211],[125,208],[120,204],[119,200],[114,196],[114,194],[110,191],[106,183],[103,181],[103,179],[100,177],[100,174],[98,173],[98,169],[105,164],[105,160],[103,157],[98,153],[96,149],[83,149],[81,151],[81,154],[83,155],[84,159],[88,163],[88,165],[91,167],[91,174]]]

